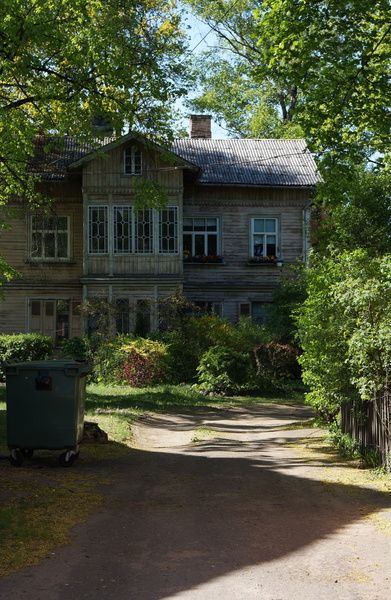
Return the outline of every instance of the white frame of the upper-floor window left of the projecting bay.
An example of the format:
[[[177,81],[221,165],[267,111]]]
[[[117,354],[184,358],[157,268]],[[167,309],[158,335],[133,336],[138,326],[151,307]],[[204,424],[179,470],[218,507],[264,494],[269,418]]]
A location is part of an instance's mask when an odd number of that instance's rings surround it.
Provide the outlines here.
[[[36,227],[34,225],[35,219],[41,219],[43,226]],[[59,219],[65,219],[66,228],[59,229],[56,226],[56,223],[59,223]],[[53,225],[50,227],[50,221],[52,221]],[[41,255],[37,255],[36,244],[34,242],[34,235],[41,236]],[[45,245],[45,235],[52,234],[54,237],[54,256],[47,256],[48,245]],[[59,256],[60,252],[60,244],[59,244],[59,235],[66,235],[66,255]],[[30,215],[29,219],[29,260],[37,261],[37,262],[68,262],[71,260],[70,254],[71,248],[71,218],[69,215]]]

